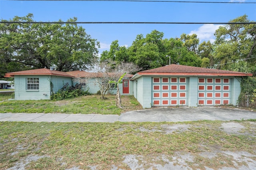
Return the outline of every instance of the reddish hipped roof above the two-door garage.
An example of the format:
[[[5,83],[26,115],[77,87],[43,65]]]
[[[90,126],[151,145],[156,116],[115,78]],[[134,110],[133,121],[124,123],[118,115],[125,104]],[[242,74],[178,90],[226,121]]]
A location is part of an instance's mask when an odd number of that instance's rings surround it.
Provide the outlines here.
[[[206,69],[202,67],[192,67],[187,65],[166,65],[156,69],[140,71],[136,75],[191,75],[191,76],[252,76],[251,73],[237,71],[227,71],[219,69]],[[134,76],[135,78],[136,76]]]

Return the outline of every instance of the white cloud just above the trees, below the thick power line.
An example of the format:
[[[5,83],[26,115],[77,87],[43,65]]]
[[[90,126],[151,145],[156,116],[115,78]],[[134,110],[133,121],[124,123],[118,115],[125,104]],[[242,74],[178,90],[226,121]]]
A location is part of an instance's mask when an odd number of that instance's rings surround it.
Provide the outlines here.
[[[191,31],[189,35],[196,34],[197,38],[200,39],[200,42],[203,42],[203,41],[214,42],[215,40],[214,32],[220,26],[223,26],[223,25],[204,24],[203,26],[200,26],[197,30]]]

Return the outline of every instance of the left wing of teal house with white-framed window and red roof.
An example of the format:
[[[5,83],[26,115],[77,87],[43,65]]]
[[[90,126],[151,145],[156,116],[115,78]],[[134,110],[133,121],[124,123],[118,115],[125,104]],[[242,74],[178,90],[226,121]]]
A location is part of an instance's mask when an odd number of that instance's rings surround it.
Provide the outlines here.
[[[6,73],[5,77],[14,77],[15,100],[49,100],[52,91],[58,91],[64,83],[72,84],[72,75],[46,68]]]

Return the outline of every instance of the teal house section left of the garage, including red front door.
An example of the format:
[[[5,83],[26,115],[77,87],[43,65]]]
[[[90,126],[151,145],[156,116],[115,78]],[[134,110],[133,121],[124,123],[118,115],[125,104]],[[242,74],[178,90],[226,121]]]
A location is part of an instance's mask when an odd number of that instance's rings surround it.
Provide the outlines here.
[[[6,73],[5,77],[14,77],[15,100],[49,100],[51,93],[60,90],[65,83],[69,85],[79,83],[82,85],[82,89],[89,89],[89,93],[97,93],[100,89],[95,84],[95,78],[100,78],[101,74],[89,73],[81,69],[62,72],[43,68]],[[127,74],[123,78],[123,83],[119,84],[121,95],[133,95],[133,83],[130,83],[130,77],[132,76]],[[109,93],[116,94],[116,91],[117,88],[112,85]]]

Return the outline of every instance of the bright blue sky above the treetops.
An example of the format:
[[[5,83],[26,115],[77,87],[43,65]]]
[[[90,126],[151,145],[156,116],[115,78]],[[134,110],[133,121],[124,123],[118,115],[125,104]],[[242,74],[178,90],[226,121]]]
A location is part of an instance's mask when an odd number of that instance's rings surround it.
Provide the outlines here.
[[[199,0],[190,0],[199,1]],[[202,0],[203,1],[203,0]],[[256,0],[207,0],[214,2],[256,2]],[[228,22],[246,14],[256,21],[256,4],[206,4],[174,2],[102,2],[102,1],[9,1],[0,0],[0,18],[34,14],[35,21],[78,22]],[[180,37],[182,33],[197,34],[200,42],[214,40],[219,25],[203,24],[81,24],[86,33],[97,39],[99,53],[108,50],[114,40],[119,45],[132,45],[138,34],[152,30],[164,33],[164,38]]]

